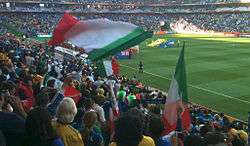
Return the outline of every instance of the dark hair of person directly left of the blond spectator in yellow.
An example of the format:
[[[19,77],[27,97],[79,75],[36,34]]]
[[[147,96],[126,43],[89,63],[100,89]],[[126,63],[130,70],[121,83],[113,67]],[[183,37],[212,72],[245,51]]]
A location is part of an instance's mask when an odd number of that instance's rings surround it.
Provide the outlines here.
[[[52,125],[52,117],[43,107],[34,108],[27,116],[25,127],[29,146],[50,146],[57,138]]]

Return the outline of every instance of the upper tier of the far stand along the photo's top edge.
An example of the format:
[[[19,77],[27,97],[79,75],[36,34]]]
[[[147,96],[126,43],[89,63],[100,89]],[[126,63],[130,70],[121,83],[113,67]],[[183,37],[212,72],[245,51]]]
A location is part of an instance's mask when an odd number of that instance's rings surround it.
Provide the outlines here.
[[[0,12],[50,12],[73,13],[238,13],[250,12],[250,3],[84,3],[48,1],[1,1]]]

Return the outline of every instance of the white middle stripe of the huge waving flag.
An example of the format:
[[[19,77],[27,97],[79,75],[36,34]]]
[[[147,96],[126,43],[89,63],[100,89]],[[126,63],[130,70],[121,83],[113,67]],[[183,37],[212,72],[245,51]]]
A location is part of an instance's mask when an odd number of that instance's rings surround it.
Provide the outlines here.
[[[78,28],[82,32],[78,32]],[[108,19],[94,19],[80,21],[73,26],[65,35],[69,42],[78,47],[83,47],[86,52],[93,49],[101,49],[112,42],[123,38],[133,32],[137,28],[136,25],[126,22],[115,22]]]

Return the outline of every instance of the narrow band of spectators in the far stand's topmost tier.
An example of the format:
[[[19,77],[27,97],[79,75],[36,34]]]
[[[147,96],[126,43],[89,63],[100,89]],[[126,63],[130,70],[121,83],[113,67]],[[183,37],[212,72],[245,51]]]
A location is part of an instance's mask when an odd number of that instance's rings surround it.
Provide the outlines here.
[[[105,4],[105,3],[89,3],[89,4],[62,4],[62,3],[22,3],[10,2],[6,6],[6,2],[0,2],[1,11],[22,11],[22,12],[143,12],[143,13],[207,13],[207,12],[234,12],[249,11],[246,5],[138,5],[138,4]]]

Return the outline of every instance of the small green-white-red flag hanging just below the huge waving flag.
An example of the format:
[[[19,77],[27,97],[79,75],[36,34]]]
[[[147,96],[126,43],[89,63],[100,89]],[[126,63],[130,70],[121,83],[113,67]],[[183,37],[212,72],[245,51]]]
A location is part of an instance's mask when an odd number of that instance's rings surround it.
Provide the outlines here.
[[[111,60],[99,60],[96,66],[98,69],[97,72],[101,77],[120,75],[120,66],[114,57]]]

